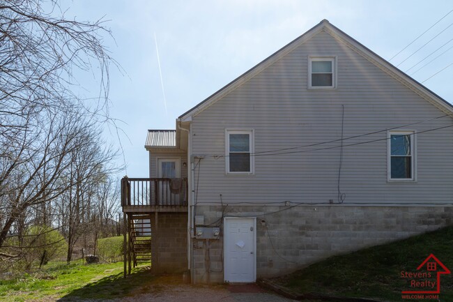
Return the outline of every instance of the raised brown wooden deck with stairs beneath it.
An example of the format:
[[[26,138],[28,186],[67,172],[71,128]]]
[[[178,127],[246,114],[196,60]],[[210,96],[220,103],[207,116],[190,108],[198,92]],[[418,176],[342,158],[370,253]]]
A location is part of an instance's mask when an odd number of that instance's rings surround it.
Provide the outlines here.
[[[121,179],[121,206],[125,225],[124,278],[130,275],[132,266],[137,266],[139,262],[151,264],[151,257],[153,269],[158,269],[158,242],[161,236],[159,217],[168,216],[168,213],[175,213],[174,216],[177,216],[176,213],[187,213],[187,200],[187,179],[132,179],[127,176]],[[147,232],[137,231],[137,225]],[[145,236],[141,236],[142,233]]]

